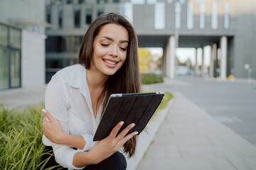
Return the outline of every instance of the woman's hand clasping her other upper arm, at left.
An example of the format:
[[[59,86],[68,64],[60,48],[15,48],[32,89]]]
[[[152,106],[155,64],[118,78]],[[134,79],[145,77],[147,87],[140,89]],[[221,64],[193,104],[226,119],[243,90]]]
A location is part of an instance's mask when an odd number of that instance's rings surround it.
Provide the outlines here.
[[[63,136],[65,135],[60,126],[60,123],[58,123],[58,120],[53,118],[53,116],[50,115],[50,113],[45,109],[42,109],[42,112],[44,115],[46,115],[46,117],[43,118],[42,123],[43,134],[46,135],[48,140],[50,140],[51,142],[60,144]]]

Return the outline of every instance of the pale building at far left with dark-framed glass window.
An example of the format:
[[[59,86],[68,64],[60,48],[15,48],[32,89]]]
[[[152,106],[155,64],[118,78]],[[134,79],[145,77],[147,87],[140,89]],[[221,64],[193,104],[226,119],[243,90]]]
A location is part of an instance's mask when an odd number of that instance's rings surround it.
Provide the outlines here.
[[[45,84],[45,1],[0,1],[0,91]]]

